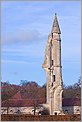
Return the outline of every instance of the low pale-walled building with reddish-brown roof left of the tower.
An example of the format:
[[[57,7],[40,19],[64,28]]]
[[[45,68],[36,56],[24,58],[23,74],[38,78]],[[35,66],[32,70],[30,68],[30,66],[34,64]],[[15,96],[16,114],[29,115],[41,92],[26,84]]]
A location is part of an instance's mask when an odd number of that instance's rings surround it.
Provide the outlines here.
[[[1,102],[1,114],[39,114],[43,108],[40,104],[44,103],[42,99],[25,99],[17,92],[11,99]]]

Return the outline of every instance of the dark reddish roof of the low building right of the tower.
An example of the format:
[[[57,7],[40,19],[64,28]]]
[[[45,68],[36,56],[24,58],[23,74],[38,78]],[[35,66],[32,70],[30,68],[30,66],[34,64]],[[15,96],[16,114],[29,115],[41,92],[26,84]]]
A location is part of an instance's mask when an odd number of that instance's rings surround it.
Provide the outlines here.
[[[79,98],[63,98],[62,106],[81,106],[81,99]]]

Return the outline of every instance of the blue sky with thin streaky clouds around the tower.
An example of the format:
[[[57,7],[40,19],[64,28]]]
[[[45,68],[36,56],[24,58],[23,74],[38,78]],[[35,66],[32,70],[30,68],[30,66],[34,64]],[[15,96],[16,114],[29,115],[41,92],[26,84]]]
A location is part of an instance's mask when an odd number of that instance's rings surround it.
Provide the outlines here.
[[[1,78],[46,83],[42,68],[55,13],[61,30],[62,78],[78,82],[81,56],[81,4],[79,1],[3,1],[1,4]]]

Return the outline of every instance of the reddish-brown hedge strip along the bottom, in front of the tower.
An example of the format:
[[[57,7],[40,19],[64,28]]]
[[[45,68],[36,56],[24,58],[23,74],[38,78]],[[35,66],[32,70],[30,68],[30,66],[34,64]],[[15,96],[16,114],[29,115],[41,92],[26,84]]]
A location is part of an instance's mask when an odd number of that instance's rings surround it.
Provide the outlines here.
[[[15,115],[2,114],[1,121],[81,121],[81,115]]]

